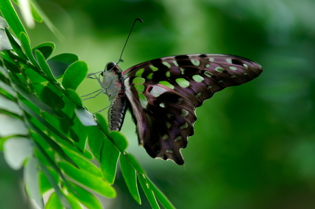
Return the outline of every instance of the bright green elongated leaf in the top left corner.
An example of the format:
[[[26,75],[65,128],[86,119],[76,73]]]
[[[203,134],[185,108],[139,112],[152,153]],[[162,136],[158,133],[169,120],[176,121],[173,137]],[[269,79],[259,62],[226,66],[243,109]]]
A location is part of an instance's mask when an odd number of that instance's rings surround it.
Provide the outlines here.
[[[15,36],[17,37],[20,36],[21,32],[26,33],[10,0],[1,0],[0,8],[1,8],[1,13],[3,17],[5,18],[5,20],[7,20]]]

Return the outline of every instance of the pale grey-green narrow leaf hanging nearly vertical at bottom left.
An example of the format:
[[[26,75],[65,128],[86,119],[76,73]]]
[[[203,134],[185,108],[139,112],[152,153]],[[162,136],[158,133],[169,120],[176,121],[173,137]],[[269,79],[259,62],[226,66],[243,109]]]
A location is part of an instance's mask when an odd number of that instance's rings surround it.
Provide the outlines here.
[[[44,208],[44,201],[42,200],[39,186],[38,160],[34,157],[29,158],[25,165],[24,180],[29,196],[35,200],[40,208]]]

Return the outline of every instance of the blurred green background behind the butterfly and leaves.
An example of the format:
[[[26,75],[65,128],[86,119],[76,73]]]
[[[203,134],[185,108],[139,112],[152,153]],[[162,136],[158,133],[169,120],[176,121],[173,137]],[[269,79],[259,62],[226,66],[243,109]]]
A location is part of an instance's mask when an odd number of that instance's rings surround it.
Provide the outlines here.
[[[195,134],[182,150],[185,165],[149,157],[138,147],[127,114],[127,149],[177,208],[315,208],[315,1],[125,0],[38,1],[62,32],[60,42],[44,24],[28,29],[31,46],[55,42],[103,70],[119,55],[135,18],[121,68],[188,53],[247,57],[264,68],[260,77],[218,92],[197,109]],[[99,89],[84,81],[81,95]],[[91,112],[108,98],[86,100]],[[106,115],[106,111],[102,112]],[[0,208],[31,208],[23,172],[0,163]],[[118,197],[104,208],[150,208],[129,195],[121,173]]]

